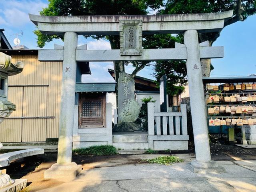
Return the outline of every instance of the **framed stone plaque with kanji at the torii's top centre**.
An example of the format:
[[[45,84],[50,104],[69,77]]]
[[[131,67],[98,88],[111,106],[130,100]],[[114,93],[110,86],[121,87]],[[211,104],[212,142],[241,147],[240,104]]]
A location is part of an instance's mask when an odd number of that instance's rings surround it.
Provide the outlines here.
[[[142,54],[142,20],[120,20],[120,54]]]

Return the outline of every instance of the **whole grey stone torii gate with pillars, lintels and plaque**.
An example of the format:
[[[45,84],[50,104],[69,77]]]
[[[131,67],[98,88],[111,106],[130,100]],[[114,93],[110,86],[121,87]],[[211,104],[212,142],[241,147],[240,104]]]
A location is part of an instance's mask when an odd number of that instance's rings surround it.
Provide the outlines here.
[[[223,172],[211,160],[200,59],[224,57],[223,47],[198,42],[198,33],[219,32],[233,10],[210,14],[127,16],[38,16],[30,20],[43,34],[64,35],[64,48],[39,50],[40,61],[63,61],[58,161],[45,178],[74,178],[81,166],[71,161],[74,122],[76,62],[186,60],[196,160],[194,172]],[[184,33],[184,44],[170,49],[142,49],[142,34]],[[120,35],[120,50],[86,50],[77,47],[78,35]],[[132,39],[131,39],[132,37]]]

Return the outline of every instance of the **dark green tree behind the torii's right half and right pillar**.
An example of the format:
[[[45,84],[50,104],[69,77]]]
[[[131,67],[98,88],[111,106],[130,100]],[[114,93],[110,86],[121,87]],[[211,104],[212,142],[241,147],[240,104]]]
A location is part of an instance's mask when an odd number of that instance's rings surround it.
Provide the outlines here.
[[[158,14],[189,14],[213,13],[234,9],[233,17],[225,20],[224,27],[238,21],[244,21],[256,12],[256,0],[166,0]],[[220,32],[200,33],[199,42],[209,41],[209,46],[220,36]],[[149,40],[149,39],[147,39]],[[177,36],[154,35],[151,44],[157,48],[174,48],[174,42],[184,43],[183,34]],[[210,59],[202,59],[202,75],[210,76],[213,68]],[[154,66],[153,76],[159,82],[162,75],[167,77],[168,94],[177,94],[184,90],[187,83],[186,65],[184,61],[157,61]]]

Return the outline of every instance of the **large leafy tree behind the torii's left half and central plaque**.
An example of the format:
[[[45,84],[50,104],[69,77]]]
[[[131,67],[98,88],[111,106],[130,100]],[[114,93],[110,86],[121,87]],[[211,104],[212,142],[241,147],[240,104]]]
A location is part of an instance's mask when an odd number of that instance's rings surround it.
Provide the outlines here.
[[[48,0],[48,7],[44,8],[40,15],[45,16],[62,16],[62,15],[138,15],[147,14],[148,9],[156,10],[162,6],[162,0]],[[44,47],[46,42],[52,41],[54,38],[61,38],[58,35],[45,35],[35,30],[38,36],[37,44],[40,48]],[[85,36],[88,37],[88,36]],[[94,39],[106,38],[110,41],[112,49],[119,49],[118,36],[91,36]],[[127,62],[114,62],[115,80],[118,82],[119,72],[125,71]],[[148,62],[133,62],[135,67],[132,72],[134,77],[140,70],[148,64]],[[116,96],[118,90],[116,87]]]

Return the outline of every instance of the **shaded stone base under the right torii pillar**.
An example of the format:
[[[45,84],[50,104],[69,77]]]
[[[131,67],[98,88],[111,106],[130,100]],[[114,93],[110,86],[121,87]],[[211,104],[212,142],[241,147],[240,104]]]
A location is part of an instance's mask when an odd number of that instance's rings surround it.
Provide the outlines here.
[[[226,172],[224,167],[219,166],[215,161],[202,162],[194,160],[190,164],[188,164],[188,168],[190,171],[194,173],[224,173]]]

